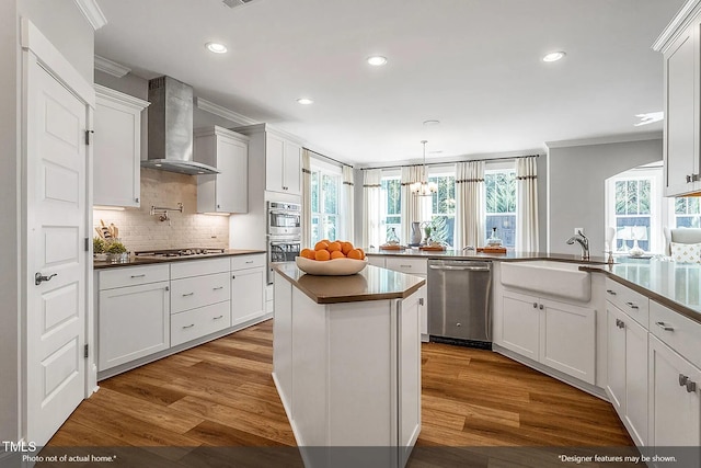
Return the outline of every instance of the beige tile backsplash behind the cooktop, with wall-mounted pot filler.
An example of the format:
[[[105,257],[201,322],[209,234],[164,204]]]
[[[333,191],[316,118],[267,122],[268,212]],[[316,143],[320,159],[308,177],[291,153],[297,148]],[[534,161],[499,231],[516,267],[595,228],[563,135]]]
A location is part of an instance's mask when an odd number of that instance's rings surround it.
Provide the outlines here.
[[[151,206],[177,207],[169,221],[151,216]],[[229,217],[197,214],[197,179],[194,175],[141,169],[141,207],[124,212],[94,209],[93,224],[102,219],[119,228],[119,238],[130,252],[151,249],[229,248]],[[93,230],[93,236],[97,233]]]

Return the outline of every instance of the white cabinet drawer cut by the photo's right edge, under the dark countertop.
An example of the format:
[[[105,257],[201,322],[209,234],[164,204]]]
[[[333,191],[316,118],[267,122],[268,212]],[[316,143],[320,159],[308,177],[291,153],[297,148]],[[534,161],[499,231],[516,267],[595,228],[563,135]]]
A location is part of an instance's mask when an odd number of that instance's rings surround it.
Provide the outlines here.
[[[701,323],[651,300],[650,332],[701,367]]]

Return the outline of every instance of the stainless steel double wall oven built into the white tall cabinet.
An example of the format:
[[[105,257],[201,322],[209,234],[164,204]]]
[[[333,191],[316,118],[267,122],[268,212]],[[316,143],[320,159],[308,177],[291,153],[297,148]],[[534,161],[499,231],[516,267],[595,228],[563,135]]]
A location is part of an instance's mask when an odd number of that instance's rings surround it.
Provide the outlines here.
[[[273,264],[294,262],[302,238],[302,207],[296,203],[267,203],[267,282],[273,283]]]

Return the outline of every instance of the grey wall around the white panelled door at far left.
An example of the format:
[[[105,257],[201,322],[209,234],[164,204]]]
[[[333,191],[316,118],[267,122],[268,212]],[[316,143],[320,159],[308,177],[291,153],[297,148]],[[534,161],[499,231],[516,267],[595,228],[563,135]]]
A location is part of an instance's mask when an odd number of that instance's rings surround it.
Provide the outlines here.
[[[92,82],[93,30],[73,0],[0,1],[0,441],[23,436],[20,414],[20,323],[25,305],[20,278],[21,49],[20,16],[28,18],[71,65]]]

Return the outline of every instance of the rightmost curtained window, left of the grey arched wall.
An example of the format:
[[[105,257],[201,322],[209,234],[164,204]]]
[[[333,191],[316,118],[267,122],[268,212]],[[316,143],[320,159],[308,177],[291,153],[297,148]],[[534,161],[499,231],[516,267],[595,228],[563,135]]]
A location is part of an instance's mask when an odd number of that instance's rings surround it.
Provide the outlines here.
[[[484,199],[486,214],[485,239],[496,236],[502,246],[516,247],[516,169],[484,171]]]

